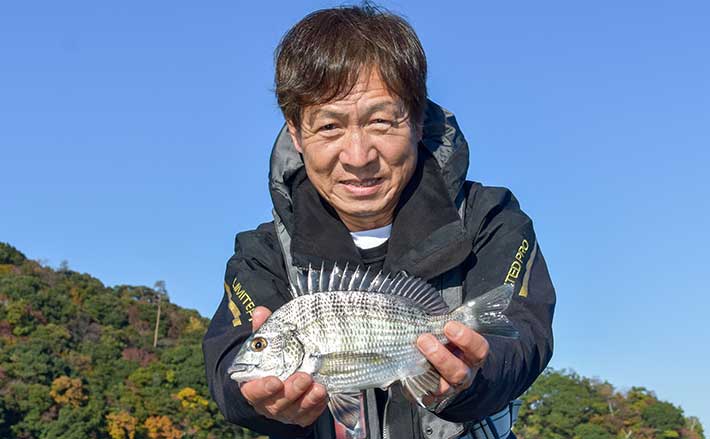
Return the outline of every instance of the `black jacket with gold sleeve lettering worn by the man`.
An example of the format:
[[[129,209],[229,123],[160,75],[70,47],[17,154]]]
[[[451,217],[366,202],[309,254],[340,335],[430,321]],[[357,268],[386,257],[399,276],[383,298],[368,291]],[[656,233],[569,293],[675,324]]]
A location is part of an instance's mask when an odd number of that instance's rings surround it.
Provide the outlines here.
[[[504,283],[515,286],[506,312],[517,340],[488,337],[489,356],[473,385],[438,416],[470,422],[502,409],[522,394],[552,356],[555,292],[531,220],[507,189],[466,182],[468,147],[451,113],[430,103],[412,180],[395,212],[385,270],[404,270],[436,285],[461,270],[464,300]],[[282,130],[271,159],[274,209],[291,236],[293,264],[362,263],[347,228],[317,194],[300,156]],[[456,208],[465,194],[465,221]],[[464,224],[465,223],[465,224]],[[284,425],[258,415],[227,376],[241,343],[251,334],[255,306],[279,308],[291,298],[274,223],[239,233],[227,263],[225,294],[203,341],[212,397],[228,421],[283,437],[331,437],[326,410],[314,427]]]

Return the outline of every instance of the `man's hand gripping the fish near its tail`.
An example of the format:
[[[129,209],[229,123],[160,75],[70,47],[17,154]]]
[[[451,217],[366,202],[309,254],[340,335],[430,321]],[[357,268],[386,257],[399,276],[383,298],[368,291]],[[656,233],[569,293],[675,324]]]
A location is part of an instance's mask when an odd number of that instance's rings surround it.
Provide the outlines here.
[[[488,356],[488,341],[471,328],[459,322],[449,322],[444,327],[444,334],[451,342],[447,346],[431,334],[422,334],[417,339],[417,347],[441,375],[438,392],[424,399],[427,407],[435,407],[469,388],[476,371]]]

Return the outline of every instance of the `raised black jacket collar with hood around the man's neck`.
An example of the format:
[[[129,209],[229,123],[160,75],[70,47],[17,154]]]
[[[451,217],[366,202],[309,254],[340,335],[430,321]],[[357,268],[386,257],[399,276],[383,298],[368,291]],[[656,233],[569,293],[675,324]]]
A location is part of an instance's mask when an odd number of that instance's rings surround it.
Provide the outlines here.
[[[453,114],[431,101],[423,133],[417,169],[395,211],[385,270],[430,279],[460,264],[471,250],[455,206],[468,169],[468,146]],[[285,127],[271,154],[269,186],[291,236],[294,265],[362,263],[349,231],[306,177]]]

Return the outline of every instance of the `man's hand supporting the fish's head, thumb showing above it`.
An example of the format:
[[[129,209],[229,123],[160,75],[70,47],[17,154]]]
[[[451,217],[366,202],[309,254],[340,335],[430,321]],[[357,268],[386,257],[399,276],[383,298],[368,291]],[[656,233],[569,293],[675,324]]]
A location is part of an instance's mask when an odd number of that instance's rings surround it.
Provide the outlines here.
[[[252,313],[254,331],[270,315],[268,308],[256,307]],[[276,377],[252,380],[242,384],[240,389],[260,415],[302,427],[314,423],[328,404],[325,388],[303,372],[295,373],[283,382]]]

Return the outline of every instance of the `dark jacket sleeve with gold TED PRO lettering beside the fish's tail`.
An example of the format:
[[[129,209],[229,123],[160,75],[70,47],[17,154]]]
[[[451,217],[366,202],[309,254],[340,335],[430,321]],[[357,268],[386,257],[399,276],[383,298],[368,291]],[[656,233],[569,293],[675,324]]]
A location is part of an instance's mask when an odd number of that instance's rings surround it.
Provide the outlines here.
[[[456,422],[496,413],[532,385],[552,357],[555,307],[555,290],[532,221],[510,191],[475,185],[467,207],[467,228],[475,238],[464,300],[512,284],[506,315],[520,337],[486,336],[490,350],[473,384],[438,415]]]

